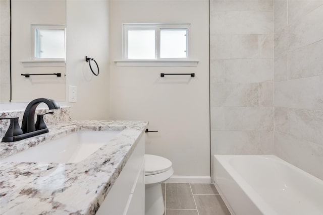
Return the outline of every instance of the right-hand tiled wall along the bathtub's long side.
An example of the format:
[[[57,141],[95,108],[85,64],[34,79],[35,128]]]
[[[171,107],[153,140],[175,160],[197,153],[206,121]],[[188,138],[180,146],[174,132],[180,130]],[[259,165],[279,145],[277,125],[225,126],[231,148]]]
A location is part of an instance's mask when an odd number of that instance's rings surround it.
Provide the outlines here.
[[[275,154],[323,179],[323,1],[275,1]]]

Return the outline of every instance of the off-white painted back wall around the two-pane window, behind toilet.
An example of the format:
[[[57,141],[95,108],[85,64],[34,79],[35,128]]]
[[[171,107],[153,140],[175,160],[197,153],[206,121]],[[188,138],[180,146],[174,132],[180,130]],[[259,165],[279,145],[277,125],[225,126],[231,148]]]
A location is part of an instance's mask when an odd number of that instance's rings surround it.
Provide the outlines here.
[[[208,1],[111,2],[111,116],[147,120],[146,153],[173,162],[174,175],[209,176]],[[191,23],[197,67],[120,67],[122,23]],[[195,78],[160,73],[195,73]]]

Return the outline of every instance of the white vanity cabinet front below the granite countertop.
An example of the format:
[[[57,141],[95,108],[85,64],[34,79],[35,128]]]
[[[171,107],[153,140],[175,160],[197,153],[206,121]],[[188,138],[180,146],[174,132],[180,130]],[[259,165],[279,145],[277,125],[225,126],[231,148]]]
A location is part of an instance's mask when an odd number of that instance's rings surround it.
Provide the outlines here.
[[[145,136],[143,135],[96,215],[144,215],[144,154]]]

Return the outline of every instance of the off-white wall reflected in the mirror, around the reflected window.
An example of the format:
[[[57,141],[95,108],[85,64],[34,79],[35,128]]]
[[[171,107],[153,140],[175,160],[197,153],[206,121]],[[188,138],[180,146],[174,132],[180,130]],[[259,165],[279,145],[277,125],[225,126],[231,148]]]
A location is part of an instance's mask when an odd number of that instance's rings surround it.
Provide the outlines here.
[[[57,0],[12,1],[12,101],[28,102],[40,97],[65,101],[65,66],[24,67],[21,61],[32,59],[31,24],[65,24],[66,2]],[[21,74],[61,73],[62,77]]]

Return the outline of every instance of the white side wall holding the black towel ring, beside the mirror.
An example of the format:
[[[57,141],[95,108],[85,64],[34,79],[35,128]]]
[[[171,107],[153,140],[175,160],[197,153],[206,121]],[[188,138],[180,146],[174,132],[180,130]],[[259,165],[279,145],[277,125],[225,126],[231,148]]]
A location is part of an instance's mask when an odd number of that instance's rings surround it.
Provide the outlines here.
[[[67,0],[67,88],[77,87],[77,102],[67,103],[72,120],[109,119],[109,4]],[[99,76],[86,55],[97,61]]]

